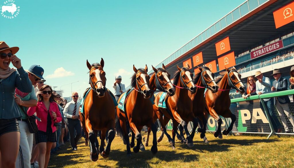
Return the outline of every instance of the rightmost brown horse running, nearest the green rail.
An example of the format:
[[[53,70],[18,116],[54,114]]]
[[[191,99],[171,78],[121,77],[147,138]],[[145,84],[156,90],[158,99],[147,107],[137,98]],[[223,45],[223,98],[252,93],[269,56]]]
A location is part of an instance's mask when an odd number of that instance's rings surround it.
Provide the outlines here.
[[[226,71],[220,72],[220,75],[216,77],[216,83],[219,87],[218,92],[213,93],[211,90],[208,90],[205,97],[207,109],[204,112],[206,114],[206,119],[208,118],[208,114],[210,114],[214,119],[217,120],[218,129],[214,133],[214,136],[220,136],[220,138],[222,138],[220,130],[222,119],[218,115],[232,119],[228,129],[223,131],[224,135],[229,134],[229,132],[233,129],[233,124],[236,120],[235,114],[232,114],[230,111],[230,89],[233,88],[241,94],[245,93],[245,87],[240,80],[241,75],[238,73],[235,67],[232,67],[231,69],[225,68],[225,70]]]

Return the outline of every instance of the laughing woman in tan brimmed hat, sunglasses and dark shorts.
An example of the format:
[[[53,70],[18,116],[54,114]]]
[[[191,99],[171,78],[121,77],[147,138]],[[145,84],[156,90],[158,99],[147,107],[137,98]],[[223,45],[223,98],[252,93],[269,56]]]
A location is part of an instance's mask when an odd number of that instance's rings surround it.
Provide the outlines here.
[[[14,101],[15,88],[30,93],[32,83],[28,73],[21,66],[21,60],[15,56],[19,47],[9,47],[0,41],[0,154],[1,167],[15,167],[19,152],[20,130],[17,118],[22,117]],[[12,63],[16,69],[9,67]]]

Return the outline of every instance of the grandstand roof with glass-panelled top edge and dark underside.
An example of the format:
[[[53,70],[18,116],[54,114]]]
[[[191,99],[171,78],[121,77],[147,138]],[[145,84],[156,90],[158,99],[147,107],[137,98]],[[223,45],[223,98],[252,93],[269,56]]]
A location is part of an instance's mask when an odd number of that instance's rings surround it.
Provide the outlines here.
[[[254,0],[250,1],[252,2]],[[200,51],[202,51],[204,63],[216,60],[217,55],[215,43],[227,36],[229,36],[230,38],[231,51],[235,51],[235,53],[238,53],[246,49],[249,50],[253,47],[262,45],[265,42],[273,40],[272,38],[274,37],[278,38],[281,34],[285,32],[293,32],[294,22],[291,22],[285,26],[276,29],[275,21],[273,18],[273,11],[284,6],[285,4],[288,4],[292,0],[268,0],[263,2],[261,2],[262,0],[255,0],[256,3],[258,2],[258,6],[256,6],[255,9],[251,9],[251,11],[250,5],[252,6],[252,4],[250,4],[250,1],[245,1],[243,4],[235,8],[232,12],[224,16],[222,19],[217,21],[215,24],[210,26],[208,29],[203,31],[201,34],[196,36],[196,38],[192,39],[184,46],[189,45],[193,40],[196,41],[196,39],[198,40],[199,44],[196,45],[195,42],[195,46],[193,46],[193,48],[190,45],[191,49],[188,49],[188,51],[186,51],[185,53],[176,51],[171,56],[163,60],[160,64],[158,64],[156,67],[161,67],[161,64],[164,63],[167,70],[170,73],[173,73],[174,71],[176,71],[176,66],[174,65],[178,64],[179,66],[182,66],[183,61],[191,58]],[[247,14],[244,14],[243,12],[244,6],[248,6]],[[240,16],[242,15],[242,13],[244,15],[238,19],[235,19],[235,21],[232,21],[232,23],[230,24],[227,24],[228,19],[225,19],[226,26],[223,26],[218,32],[213,34],[212,28],[216,29],[216,25],[218,23],[221,24],[221,21],[223,21],[224,18],[228,18],[227,16],[233,16],[234,20],[235,11],[239,11]],[[211,32],[211,34],[207,35],[206,31],[208,30]],[[205,33],[205,37],[203,33]],[[206,39],[206,36],[209,37]],[[200,42],[200,40],[198,39],[200,37],[202,42]],[[181,49],[183,47],[181,47]]]

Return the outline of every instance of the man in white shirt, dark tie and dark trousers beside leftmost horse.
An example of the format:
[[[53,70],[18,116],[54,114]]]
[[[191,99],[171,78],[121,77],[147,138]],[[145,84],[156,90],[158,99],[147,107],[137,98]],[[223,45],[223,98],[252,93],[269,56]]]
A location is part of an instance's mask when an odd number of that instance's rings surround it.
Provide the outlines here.
[[[77,143],[82,135],[82,127],[79,120],[79,109],[81,102],[78,102],[78,93],[71,94],[72,101],[68,102],[64,107],[63,114],[65,117],[65,124],[69,130],[69,137],[71,147],[74,151],[78,150]],[[76,129],[76,137],[74,137],[74,130]]]

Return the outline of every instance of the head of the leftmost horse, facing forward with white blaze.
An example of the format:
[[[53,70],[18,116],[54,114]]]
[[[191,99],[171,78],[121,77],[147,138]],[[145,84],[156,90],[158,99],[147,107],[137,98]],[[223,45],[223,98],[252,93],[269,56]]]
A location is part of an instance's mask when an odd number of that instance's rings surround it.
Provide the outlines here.
[[[90,85],[93,91],[97,92],[99,97],[103,97],[106,92],[106,77],[103,71],[104,61],[101,58],[100,64],[90,64],[87,60],[87,67],[90,70]]]

